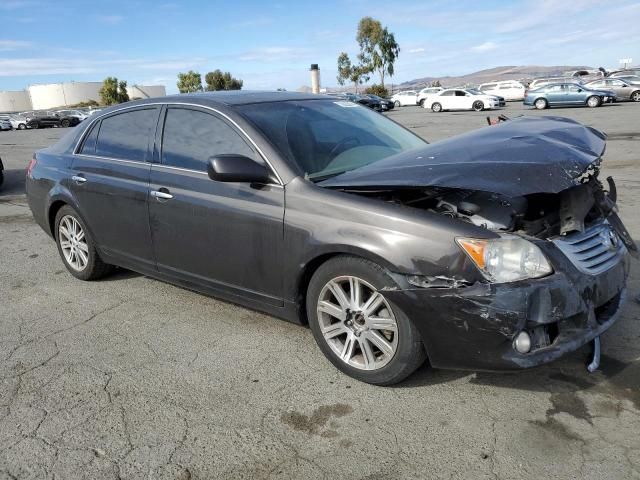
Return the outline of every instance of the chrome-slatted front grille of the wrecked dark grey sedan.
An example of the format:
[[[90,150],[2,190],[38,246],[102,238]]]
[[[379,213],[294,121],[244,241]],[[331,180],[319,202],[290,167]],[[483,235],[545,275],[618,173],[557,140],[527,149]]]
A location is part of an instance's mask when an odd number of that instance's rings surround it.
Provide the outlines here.
[[[581,272],[598,275],[613,267],[625,247],[607,221],[584,232],[572,233],[553,240],[556,247]]]

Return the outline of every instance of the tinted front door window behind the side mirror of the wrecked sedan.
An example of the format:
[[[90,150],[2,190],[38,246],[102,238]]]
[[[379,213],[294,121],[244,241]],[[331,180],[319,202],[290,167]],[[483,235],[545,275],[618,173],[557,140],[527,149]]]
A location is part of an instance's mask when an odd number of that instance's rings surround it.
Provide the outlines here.
[[[209,158],[225,153],[257,158],[241,134],[221,118],[188,108],[167,110],[162,134],[163,165],[206,172]]]

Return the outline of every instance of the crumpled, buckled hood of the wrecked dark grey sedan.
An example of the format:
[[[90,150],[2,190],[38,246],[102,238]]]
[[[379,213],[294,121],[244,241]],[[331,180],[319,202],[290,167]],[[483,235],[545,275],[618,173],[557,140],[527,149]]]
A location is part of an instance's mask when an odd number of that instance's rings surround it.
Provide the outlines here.
[[[379,160],[323,187],[446,187],[511,197],[580,183],[605,150],[602,132],[562,117],[519,117]]]

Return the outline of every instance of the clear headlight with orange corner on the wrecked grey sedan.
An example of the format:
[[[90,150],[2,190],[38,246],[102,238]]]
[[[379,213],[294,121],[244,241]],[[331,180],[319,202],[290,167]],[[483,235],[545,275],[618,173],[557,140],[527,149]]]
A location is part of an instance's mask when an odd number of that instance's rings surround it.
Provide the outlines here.
[[[456,239],[460,248],[492,283],[540,278],[553,272],[547,257],[533,243],[515,235]]]

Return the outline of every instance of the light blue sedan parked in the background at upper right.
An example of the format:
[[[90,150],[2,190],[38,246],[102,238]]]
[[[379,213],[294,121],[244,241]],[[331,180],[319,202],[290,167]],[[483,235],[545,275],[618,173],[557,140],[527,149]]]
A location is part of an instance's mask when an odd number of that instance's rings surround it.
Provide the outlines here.
[[[549,107],[579,106],[599,107],[603,103],[616,101],[616,94],[609,90],[594,90],[576,83],[554,83],[529,90],[524,97],[525,105],[538,110]]]

